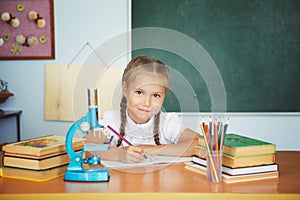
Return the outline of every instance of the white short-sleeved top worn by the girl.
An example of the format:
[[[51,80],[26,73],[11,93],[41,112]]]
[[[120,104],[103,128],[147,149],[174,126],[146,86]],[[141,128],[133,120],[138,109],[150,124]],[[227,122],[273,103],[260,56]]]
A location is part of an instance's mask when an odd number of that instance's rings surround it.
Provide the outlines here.
[[[119,132],[120,129],[120,111],[107,111],[103,114],[102,123],[105,126],[110,125],[115,131]],[[152,117],[147,123],[136,124],[127,114],[127,123],[125,127],[124,138],[128,140],[132,145],[139,144],[155,144],[153,137],[153,125],[154,117]],[[160,114],[160,125],[159,125],[159,141],[161,144],[175,144],[182,131],[186,129],[182,120],[175,113],[164,113]],[[115,135],[109,129],[106,129],[108,137],[112,138],[110,146],[117,146],[119,137]],[[123,146],[128,146],[124,141]]]

